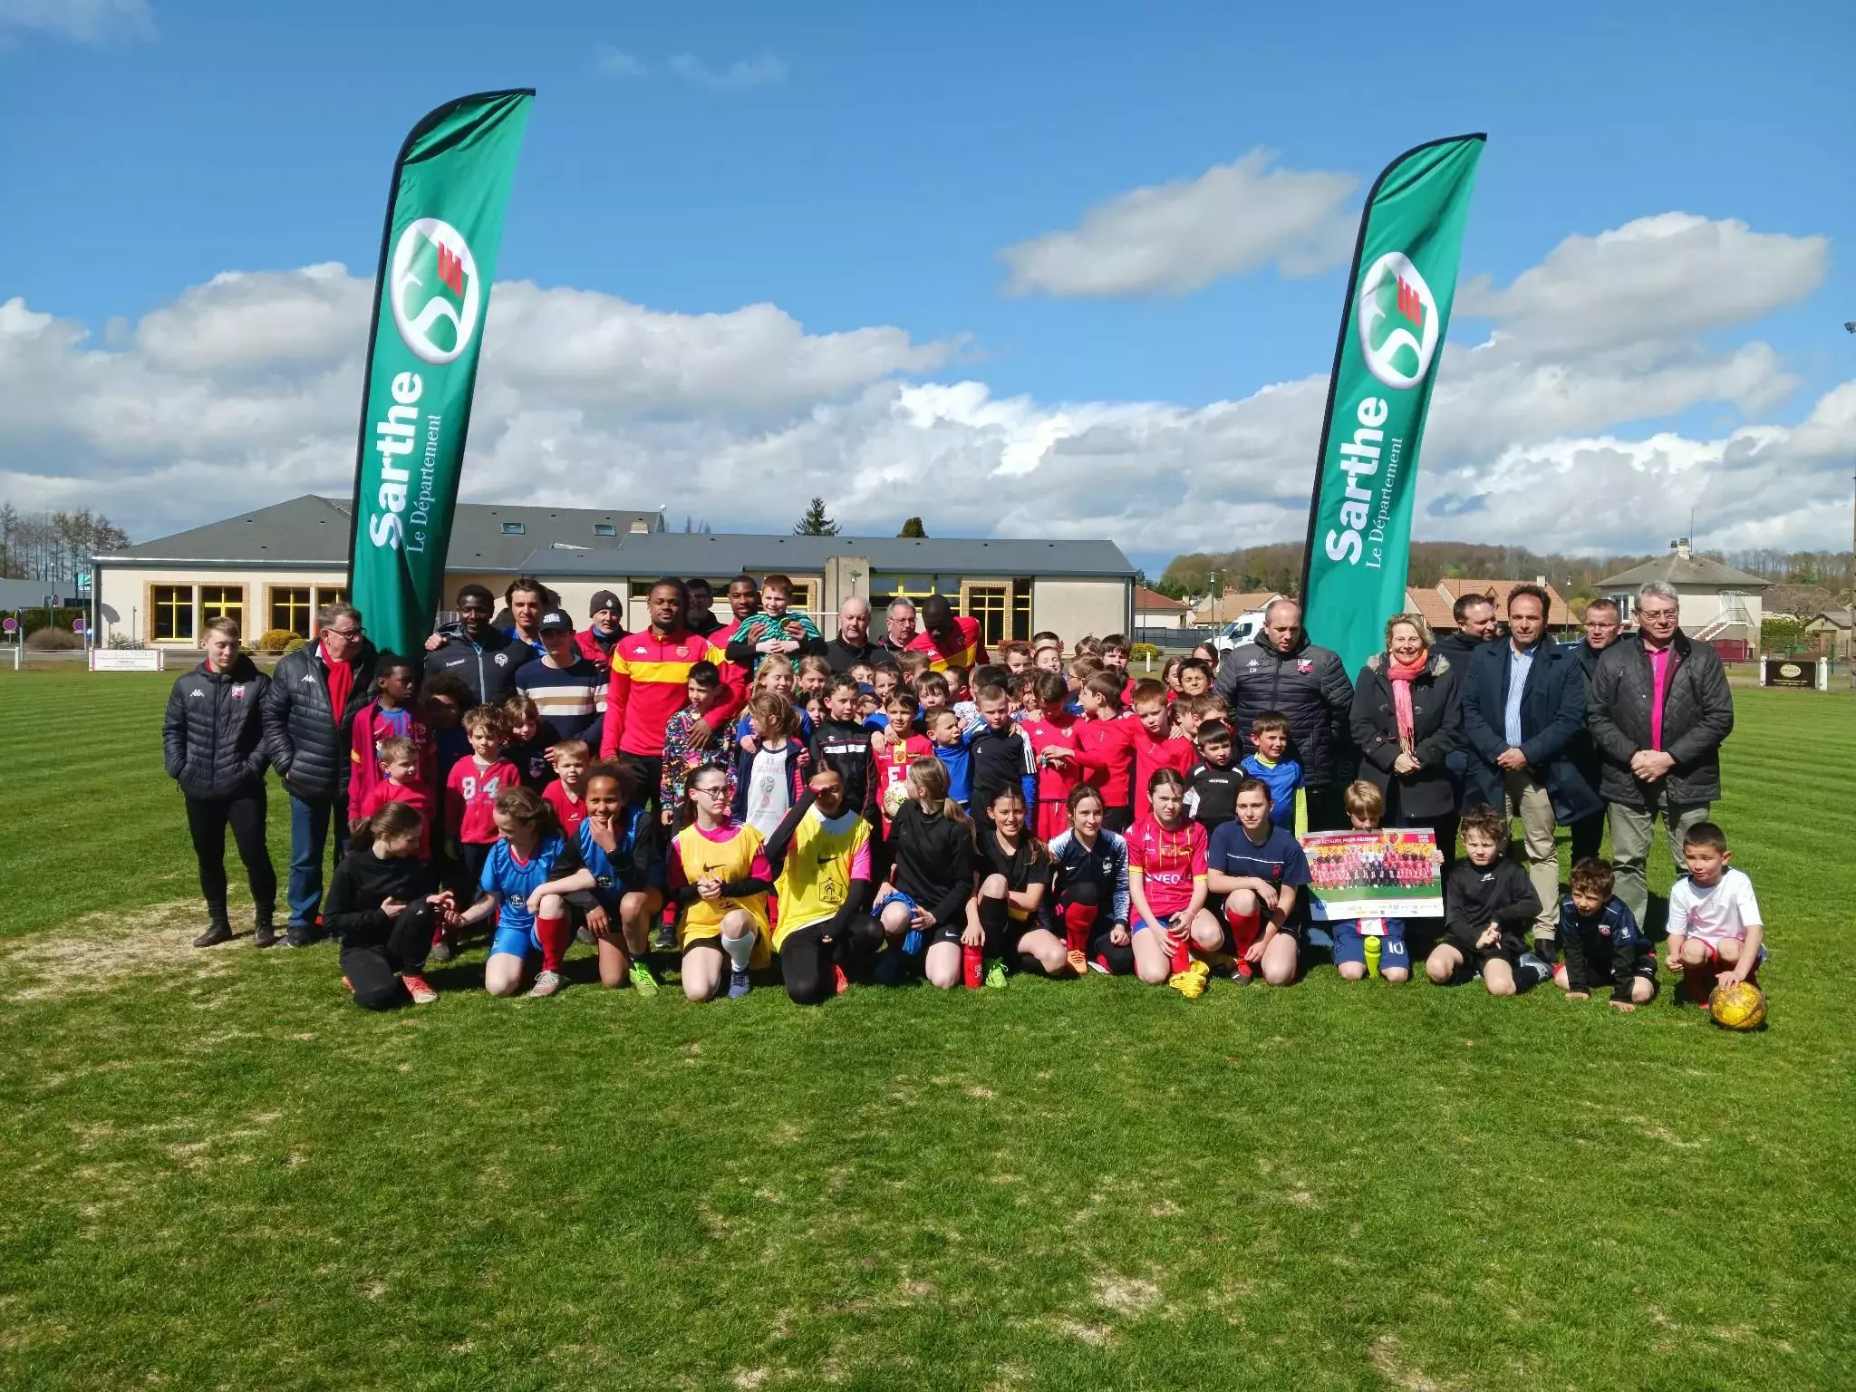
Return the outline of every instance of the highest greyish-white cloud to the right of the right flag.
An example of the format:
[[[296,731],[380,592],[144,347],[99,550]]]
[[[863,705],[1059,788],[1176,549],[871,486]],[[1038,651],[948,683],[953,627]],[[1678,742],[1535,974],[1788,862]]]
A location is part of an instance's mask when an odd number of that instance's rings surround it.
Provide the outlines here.
[[[1502,319],[1535,353],[1693,338],[1804,299],[1823,284],[1828,260],[1828,238],[1659,213],[1596,238],[1570,236],[1507,290],[1489,277],[1468,280],[1457,314]]]

